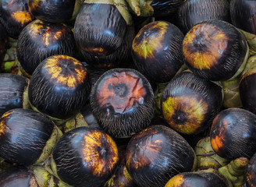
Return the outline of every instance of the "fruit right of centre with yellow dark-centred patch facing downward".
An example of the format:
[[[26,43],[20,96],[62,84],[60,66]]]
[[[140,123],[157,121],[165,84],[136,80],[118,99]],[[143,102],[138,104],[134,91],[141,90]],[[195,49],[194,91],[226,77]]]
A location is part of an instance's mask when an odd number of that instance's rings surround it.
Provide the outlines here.
[[[192,72],[181,72],[162,92],[161,109],[172,129],[198,134],[212,125],[222,101],[221,86]]]

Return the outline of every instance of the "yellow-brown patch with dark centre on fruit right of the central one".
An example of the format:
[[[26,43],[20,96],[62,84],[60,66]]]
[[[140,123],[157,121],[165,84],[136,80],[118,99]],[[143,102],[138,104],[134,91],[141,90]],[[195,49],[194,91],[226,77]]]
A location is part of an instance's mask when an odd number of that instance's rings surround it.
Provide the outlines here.
[[[178,132],[192,134],[201,128],[208,104],[191,96],[168,97],[162,102],[165,121]]]

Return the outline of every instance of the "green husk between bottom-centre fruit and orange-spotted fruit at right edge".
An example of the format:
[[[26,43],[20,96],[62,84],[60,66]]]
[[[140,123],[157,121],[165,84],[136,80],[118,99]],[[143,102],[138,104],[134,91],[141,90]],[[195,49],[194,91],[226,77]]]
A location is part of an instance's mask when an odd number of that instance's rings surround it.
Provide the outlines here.
[[[195,146],[194,151],[197,155],[197,171],[208,168],[218,169],[229,163],[229,160],[219,157],[219,155],[212,150],[209,136],[200,139]]]

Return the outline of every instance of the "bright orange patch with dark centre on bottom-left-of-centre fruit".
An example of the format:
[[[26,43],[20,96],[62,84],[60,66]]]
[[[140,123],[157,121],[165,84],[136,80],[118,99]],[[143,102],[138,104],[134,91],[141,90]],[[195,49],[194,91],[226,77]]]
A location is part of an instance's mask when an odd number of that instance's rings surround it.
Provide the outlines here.
[[[116,166],[118,149],[111,136],[98,131],[88,132],[82,146],[84,161],[93,175],[104,176]]]

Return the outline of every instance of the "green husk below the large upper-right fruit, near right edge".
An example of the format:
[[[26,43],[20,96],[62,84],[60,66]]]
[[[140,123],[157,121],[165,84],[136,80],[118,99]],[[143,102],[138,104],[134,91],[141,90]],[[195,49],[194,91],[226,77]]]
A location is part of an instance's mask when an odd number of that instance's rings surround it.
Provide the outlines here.
[[[235,79],[222,81],[222,88],[224,99],[222,103],[223,108],[241,108],[242,102],[240,100],[240,77]]]

